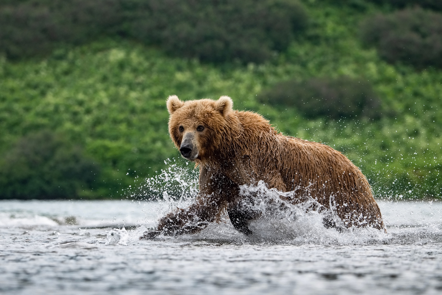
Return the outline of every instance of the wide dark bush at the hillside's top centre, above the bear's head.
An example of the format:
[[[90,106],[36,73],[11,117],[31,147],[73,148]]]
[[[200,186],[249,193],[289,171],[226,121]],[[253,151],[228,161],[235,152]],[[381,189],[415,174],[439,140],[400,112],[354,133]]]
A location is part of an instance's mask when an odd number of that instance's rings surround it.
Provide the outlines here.
[[[287,48],[305,27],[301,5],[289,0],[151,0],[131,34],[168,53],[203,61],[261,62]]]

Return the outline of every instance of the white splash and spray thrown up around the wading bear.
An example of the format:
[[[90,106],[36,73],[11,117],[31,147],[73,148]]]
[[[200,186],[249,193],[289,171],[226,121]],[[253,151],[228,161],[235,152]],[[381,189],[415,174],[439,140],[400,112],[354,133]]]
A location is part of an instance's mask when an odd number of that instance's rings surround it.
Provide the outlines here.
[[[146,211],[149,216],[156,215],[156,220],[176,208],[186,208],[194,202],[198,194],[198,170],[189,169],[188,165],[179,165],[176,161],[169,160],[168,163],[171,164],[168,169],[146,179],[142,186],[144,191],[139,195],[140,199],[156,200],[149,205],[149,212]],[[421,243],[442,239],[442,228],[438,224],[412,231],[393,230],[390,227],[387,234],[370,227],[346,228],[337,216],[333,202],[330,204],[331,210],[309,196],[303,196],[298,203],[294,203],[293,199],[300,197],[298,190],[299,188],[291,192],[280,192],[267,188],[263,181],[256,185],[240,186],[242,206],[260,213],[259,218],[249,224],[249,229],[253,232],[250,236],[235,230],[225,213],[221,216],[221,223],[210,223],[198,234],[160,238],[292,245],[373,245],[406,241]],[[334,222],[338,230],[326,228],[324,218]],[[389,220],[385,222],[389,224]],[[154,226],[155,222],[152,224],[152,220],[146,220],[146,224]],[[415,234],[411,234],[412,232]]]

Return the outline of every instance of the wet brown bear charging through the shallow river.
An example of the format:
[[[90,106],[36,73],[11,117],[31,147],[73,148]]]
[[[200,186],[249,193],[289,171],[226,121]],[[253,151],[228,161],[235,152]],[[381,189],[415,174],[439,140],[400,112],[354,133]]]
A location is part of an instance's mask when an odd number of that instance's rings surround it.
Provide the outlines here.
[[[241,205],[240,186],[260,180],[281,192],[297,189],[292,203],[313,198],[323,210],[333,207],[346,227],[384,229],[366,177],[335,149],[285,136],[257,113],[232,110],[228,96],[185,102],[169,96],[167,107],[172,141],[199,166],[199,193],[190,207],[170,212],[140,239],[195,233],[223,212],[237,230],[251,234],[249,222],[259,212]],[[324,218],[324,226],[336,224]]]

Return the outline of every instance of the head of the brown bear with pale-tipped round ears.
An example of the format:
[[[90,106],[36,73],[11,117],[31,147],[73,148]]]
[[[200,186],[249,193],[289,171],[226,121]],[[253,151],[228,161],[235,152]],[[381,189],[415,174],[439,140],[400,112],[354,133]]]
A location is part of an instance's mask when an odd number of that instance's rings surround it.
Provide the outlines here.
[[[229,96],[188,101],[168,97],[169,134],[184,158],[206,162],[225,146],[227,134],[232,133],[227,130],[235,119],[232,105]]]

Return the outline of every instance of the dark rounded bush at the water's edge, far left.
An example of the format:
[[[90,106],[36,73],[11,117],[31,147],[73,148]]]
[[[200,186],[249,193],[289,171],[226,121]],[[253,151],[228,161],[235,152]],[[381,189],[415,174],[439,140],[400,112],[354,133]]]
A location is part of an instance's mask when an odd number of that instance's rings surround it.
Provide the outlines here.
[[[99,166],[79,146],[41,131],[21,138],[0,162],[0,199],[75,198],[89,189]]]

